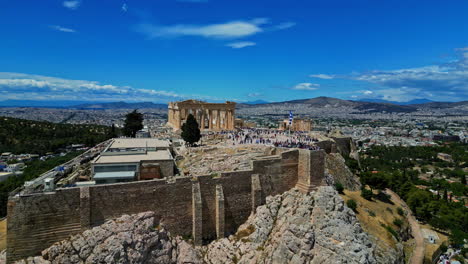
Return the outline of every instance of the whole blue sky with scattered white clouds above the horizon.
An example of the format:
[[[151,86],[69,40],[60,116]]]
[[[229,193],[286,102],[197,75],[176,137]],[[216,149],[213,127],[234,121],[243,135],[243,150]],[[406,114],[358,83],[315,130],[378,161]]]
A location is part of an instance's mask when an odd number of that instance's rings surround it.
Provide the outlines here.
[[[0,100],[468,100],[468,1],[3,1]]]

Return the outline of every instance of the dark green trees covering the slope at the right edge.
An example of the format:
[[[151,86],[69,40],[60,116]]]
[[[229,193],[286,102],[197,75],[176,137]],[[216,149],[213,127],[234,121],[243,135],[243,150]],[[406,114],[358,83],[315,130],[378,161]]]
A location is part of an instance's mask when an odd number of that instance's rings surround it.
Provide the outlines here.
[[[450,154],[442,161],[437,153]],[[373,147],[362,155],[361,182],[374,190],[389,188],[398,193],[418,220],[450,233],[455,247],[468,238],[468,209],[464,199],[468,145],[452,143],[440,147]],[[429,191],[434,190],[434,193]],[[363,196],[367,192],[363,191]],[[372,196],[372,195],[370,195]]]

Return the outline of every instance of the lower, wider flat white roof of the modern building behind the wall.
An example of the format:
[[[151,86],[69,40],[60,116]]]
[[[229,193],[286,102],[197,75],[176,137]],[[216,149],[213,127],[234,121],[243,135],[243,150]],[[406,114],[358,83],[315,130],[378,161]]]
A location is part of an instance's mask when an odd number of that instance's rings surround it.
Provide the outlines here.
[[[140,161],[172,160],[169,150],[148,151],[146,154],[99,156],[92,163],[137,163]]]

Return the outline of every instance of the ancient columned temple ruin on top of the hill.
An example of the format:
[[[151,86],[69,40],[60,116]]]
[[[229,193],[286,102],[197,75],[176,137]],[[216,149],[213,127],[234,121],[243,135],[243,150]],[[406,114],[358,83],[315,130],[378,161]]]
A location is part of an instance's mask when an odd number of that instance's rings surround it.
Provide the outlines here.
[[[198,122],[201,130],[233,130],[236,103],[206,103],[197,100],[171,102],[168,107],[168,124],[179,130],[189,114]]]

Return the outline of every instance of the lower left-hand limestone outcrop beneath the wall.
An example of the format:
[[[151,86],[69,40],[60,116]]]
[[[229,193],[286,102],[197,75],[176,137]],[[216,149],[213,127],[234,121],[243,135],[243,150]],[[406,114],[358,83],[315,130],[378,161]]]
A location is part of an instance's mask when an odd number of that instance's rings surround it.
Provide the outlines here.
[[[17,263],[200,263],[195,249],[172,238],[152,212],[124,215],[55,243]]]

